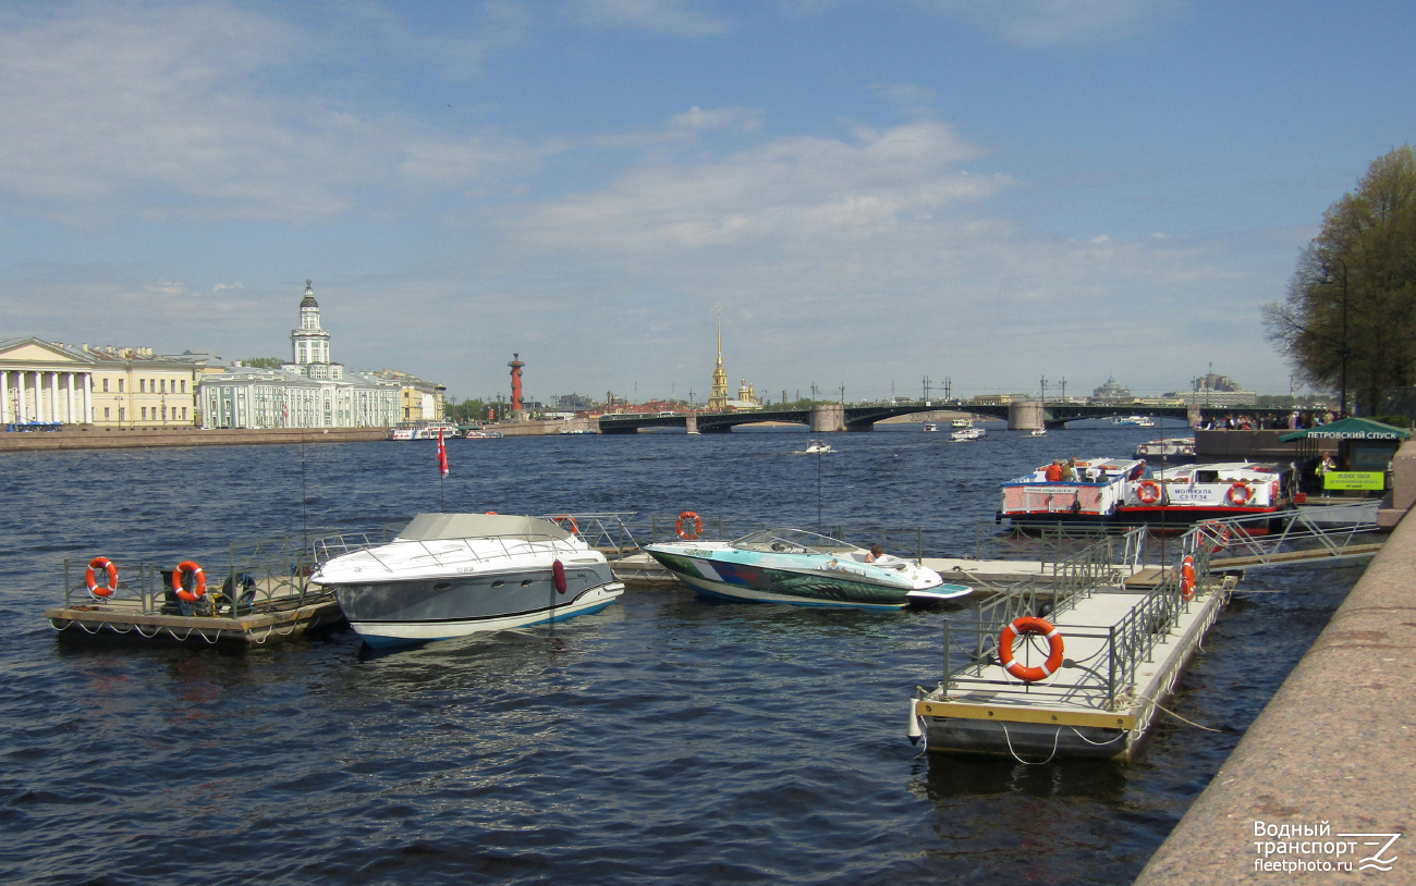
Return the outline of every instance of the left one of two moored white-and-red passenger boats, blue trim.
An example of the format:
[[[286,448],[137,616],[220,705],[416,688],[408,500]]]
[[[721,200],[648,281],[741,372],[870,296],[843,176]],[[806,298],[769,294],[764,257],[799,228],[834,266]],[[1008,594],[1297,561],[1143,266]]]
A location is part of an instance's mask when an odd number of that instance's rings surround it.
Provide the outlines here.
[[[1086,459],[1070,464],[1072,476],[1048,480],[1044,464],[1031,474],[1003,485],[1003,507],[997,519],[1014,524],[1095,522],[1117,518],[1130,484],[1146,473],[1140,459]]]

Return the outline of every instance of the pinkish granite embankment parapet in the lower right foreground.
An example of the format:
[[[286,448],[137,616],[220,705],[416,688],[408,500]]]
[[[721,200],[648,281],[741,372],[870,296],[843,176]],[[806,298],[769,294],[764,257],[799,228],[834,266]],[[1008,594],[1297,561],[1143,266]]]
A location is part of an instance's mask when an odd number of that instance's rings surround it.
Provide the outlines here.
[[[1412,443],[1393,467],[1396,498],[1409,505],[1416,495]],[[1366,878],[1416,883],[1413,699],[1416,518],[1408,517],[1151,858],[1137,886]],[[1263,822],[1263,835],[1255,832],[1255,822]],[[1314,836],[1323,828],[1327,834]],[[1405,835],[1381,856],[1395,858],[1391,870],[1361,870],[1362,859],[1386,841],[1365,835],[1396,832]],[[1328,851],[1338,841],[1347,844],[1341,855]],[[1352,869],[1324,868],[1337,862],[1352,862]]]

